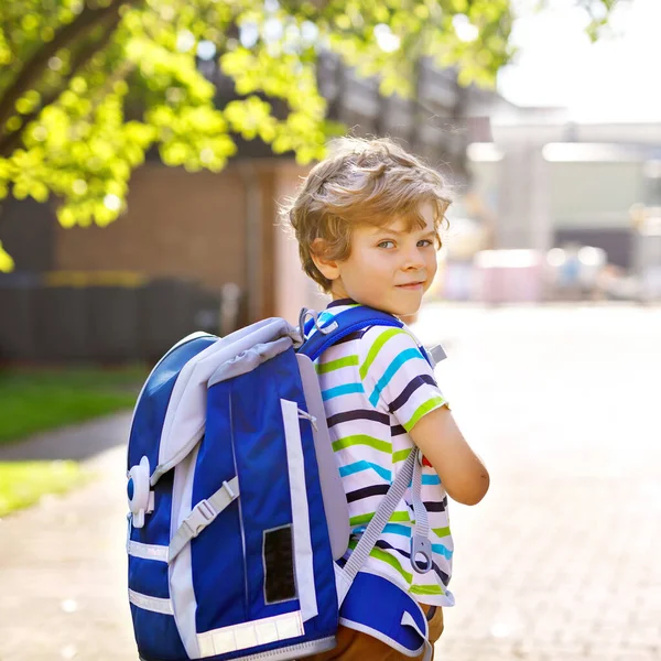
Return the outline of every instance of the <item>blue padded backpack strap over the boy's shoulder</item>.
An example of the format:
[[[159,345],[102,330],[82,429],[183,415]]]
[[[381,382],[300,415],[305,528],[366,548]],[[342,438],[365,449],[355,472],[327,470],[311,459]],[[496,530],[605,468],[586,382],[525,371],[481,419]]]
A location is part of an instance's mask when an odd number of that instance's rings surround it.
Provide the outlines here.
[[[307,316],[312,319],[305,322]],[[317,332],[307,337],[312,328],[316,326]],[[403,322],[393,317],[387,312],[373,310],[366,305],[357,305],[349,310],[340,312],[325,324],[317,323],[317,314],[312,310],[304,307],[301,311],[300,330],[303,335],[303,345],[299,348],[299,354],[304,354],[311,360],[316,360],[328,347],[356,330],[362,330],[368,326],[393,326],[402,328]]]

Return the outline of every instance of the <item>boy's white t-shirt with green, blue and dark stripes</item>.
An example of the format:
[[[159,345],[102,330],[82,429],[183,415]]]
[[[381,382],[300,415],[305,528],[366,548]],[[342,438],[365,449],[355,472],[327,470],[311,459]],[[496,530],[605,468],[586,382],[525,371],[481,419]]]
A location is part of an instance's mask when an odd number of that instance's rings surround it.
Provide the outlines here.
[[[334,301],[319,315],[319,324],[356,305],[350,300]],[[330,441],[349,506],[351,539],[345,557],[414,447],[408,432],[423,415],[447,403],[419,346],[407,326],[371,326],[340,339],[316,361]],[[423,466],[422,500],[429,513],[432,570],[418,574],[411,566],[415,518],[410,489],[365,568],[386,574],[420,603],[452,606],[454,597],[447,589],[453,554],[447,496],[429,466]]]

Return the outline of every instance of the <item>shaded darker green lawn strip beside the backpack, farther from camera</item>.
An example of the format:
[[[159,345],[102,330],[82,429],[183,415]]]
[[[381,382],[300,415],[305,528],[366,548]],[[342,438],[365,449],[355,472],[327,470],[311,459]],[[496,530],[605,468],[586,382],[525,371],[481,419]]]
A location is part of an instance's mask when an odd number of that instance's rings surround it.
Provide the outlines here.
[[[0,445],[130,409],[142,367],[0,371]]]

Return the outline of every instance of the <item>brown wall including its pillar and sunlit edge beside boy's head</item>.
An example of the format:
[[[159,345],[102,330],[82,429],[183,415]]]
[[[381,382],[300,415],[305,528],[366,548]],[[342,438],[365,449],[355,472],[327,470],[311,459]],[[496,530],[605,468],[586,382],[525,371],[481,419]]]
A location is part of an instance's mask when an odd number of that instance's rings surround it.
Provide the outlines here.
[[[214,290],[236,282],[251,297],[249,321],[278,315],[295,323],[302,305],[325,305],[301,270],[295,241],[279,226],[278,203],[307,171],[272,159],[217,174],[145,165],[133,174],[128,212],[115,223],[56,226],[54,269],[170,275]]]

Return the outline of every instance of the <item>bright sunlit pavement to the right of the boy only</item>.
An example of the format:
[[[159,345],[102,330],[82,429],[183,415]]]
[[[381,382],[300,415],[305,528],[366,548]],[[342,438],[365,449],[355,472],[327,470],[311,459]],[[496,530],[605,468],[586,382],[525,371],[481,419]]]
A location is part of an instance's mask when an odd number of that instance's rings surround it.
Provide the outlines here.
[[[661,659],[661,311],[429,310],[491,489],[451,505],[445,661]]]

